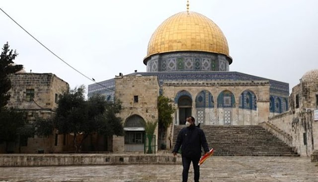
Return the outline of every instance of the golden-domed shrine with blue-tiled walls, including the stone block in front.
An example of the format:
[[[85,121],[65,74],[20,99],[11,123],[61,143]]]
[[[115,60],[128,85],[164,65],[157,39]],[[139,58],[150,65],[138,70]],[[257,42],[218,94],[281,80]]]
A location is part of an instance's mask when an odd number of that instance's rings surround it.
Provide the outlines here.
[[[183,125],[189,115],[202,125],[256,125],[289,110],[289,84],[230,71],[232,62],[226,37],[208,17],[185,11],[163,21],[148,44],[147,72],[88,86],[88,97],[100,93],[108,101],[123,101],[120,116],[127,132],[113,140],[114,152],[143,150],[139,120],[158,119],[159,94],[176,108],[166,146],[173,126]]]

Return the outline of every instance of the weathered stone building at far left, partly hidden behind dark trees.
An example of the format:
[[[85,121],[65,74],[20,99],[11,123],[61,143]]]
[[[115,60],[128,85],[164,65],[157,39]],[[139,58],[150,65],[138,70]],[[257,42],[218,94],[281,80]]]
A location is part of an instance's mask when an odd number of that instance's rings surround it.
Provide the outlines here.
[[[59,95],[69,90],[69,84],[51,73],[16,73],[8,75],[11,81],[11,95],[7,107],[27,114],[29,122],[37,118],[51,118],[58,106]],[[8,144],[13,153],[45,153],[67,150],[68,136],[55,134],[51,137],[20,138],[20,141]],[[0,153],[5,152],[5,144],[0,144]]]

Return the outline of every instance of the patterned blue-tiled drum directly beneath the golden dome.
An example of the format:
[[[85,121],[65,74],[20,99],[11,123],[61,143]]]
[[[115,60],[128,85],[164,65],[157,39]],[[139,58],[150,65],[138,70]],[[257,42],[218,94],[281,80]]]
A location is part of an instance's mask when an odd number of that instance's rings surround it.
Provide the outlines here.
[[[179,51],[152,55],[147,59],[147,72],[229,71],[226,55]]]

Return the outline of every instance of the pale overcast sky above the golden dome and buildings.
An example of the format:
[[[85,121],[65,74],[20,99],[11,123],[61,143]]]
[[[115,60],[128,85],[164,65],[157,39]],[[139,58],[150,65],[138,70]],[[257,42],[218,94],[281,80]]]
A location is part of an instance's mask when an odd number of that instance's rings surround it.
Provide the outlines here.
[[[186,0],[0,0],[29,33],[97,82],[146,72],[149,39]],[[237,71],[289,83],[318,69],[318,0],[190,0],[190,11],[225,34]],[[26,72],[54,73],[72,88],[93,84],[0,11],[0,44],[9,42]]]

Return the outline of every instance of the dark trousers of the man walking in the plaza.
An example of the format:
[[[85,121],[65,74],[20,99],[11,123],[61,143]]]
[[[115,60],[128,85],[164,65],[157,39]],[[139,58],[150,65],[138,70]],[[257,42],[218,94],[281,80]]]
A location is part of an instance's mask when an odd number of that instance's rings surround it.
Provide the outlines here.
[[[193,170],[194,170],[194,182],[199,182],[200,167],[198,163],[200,161],[200,157],[183,157],[183,156],[182,156],[182,165],[183,165],[182,182],[188,181],[188,173],[189,173],[191,161],[192,161]]]

